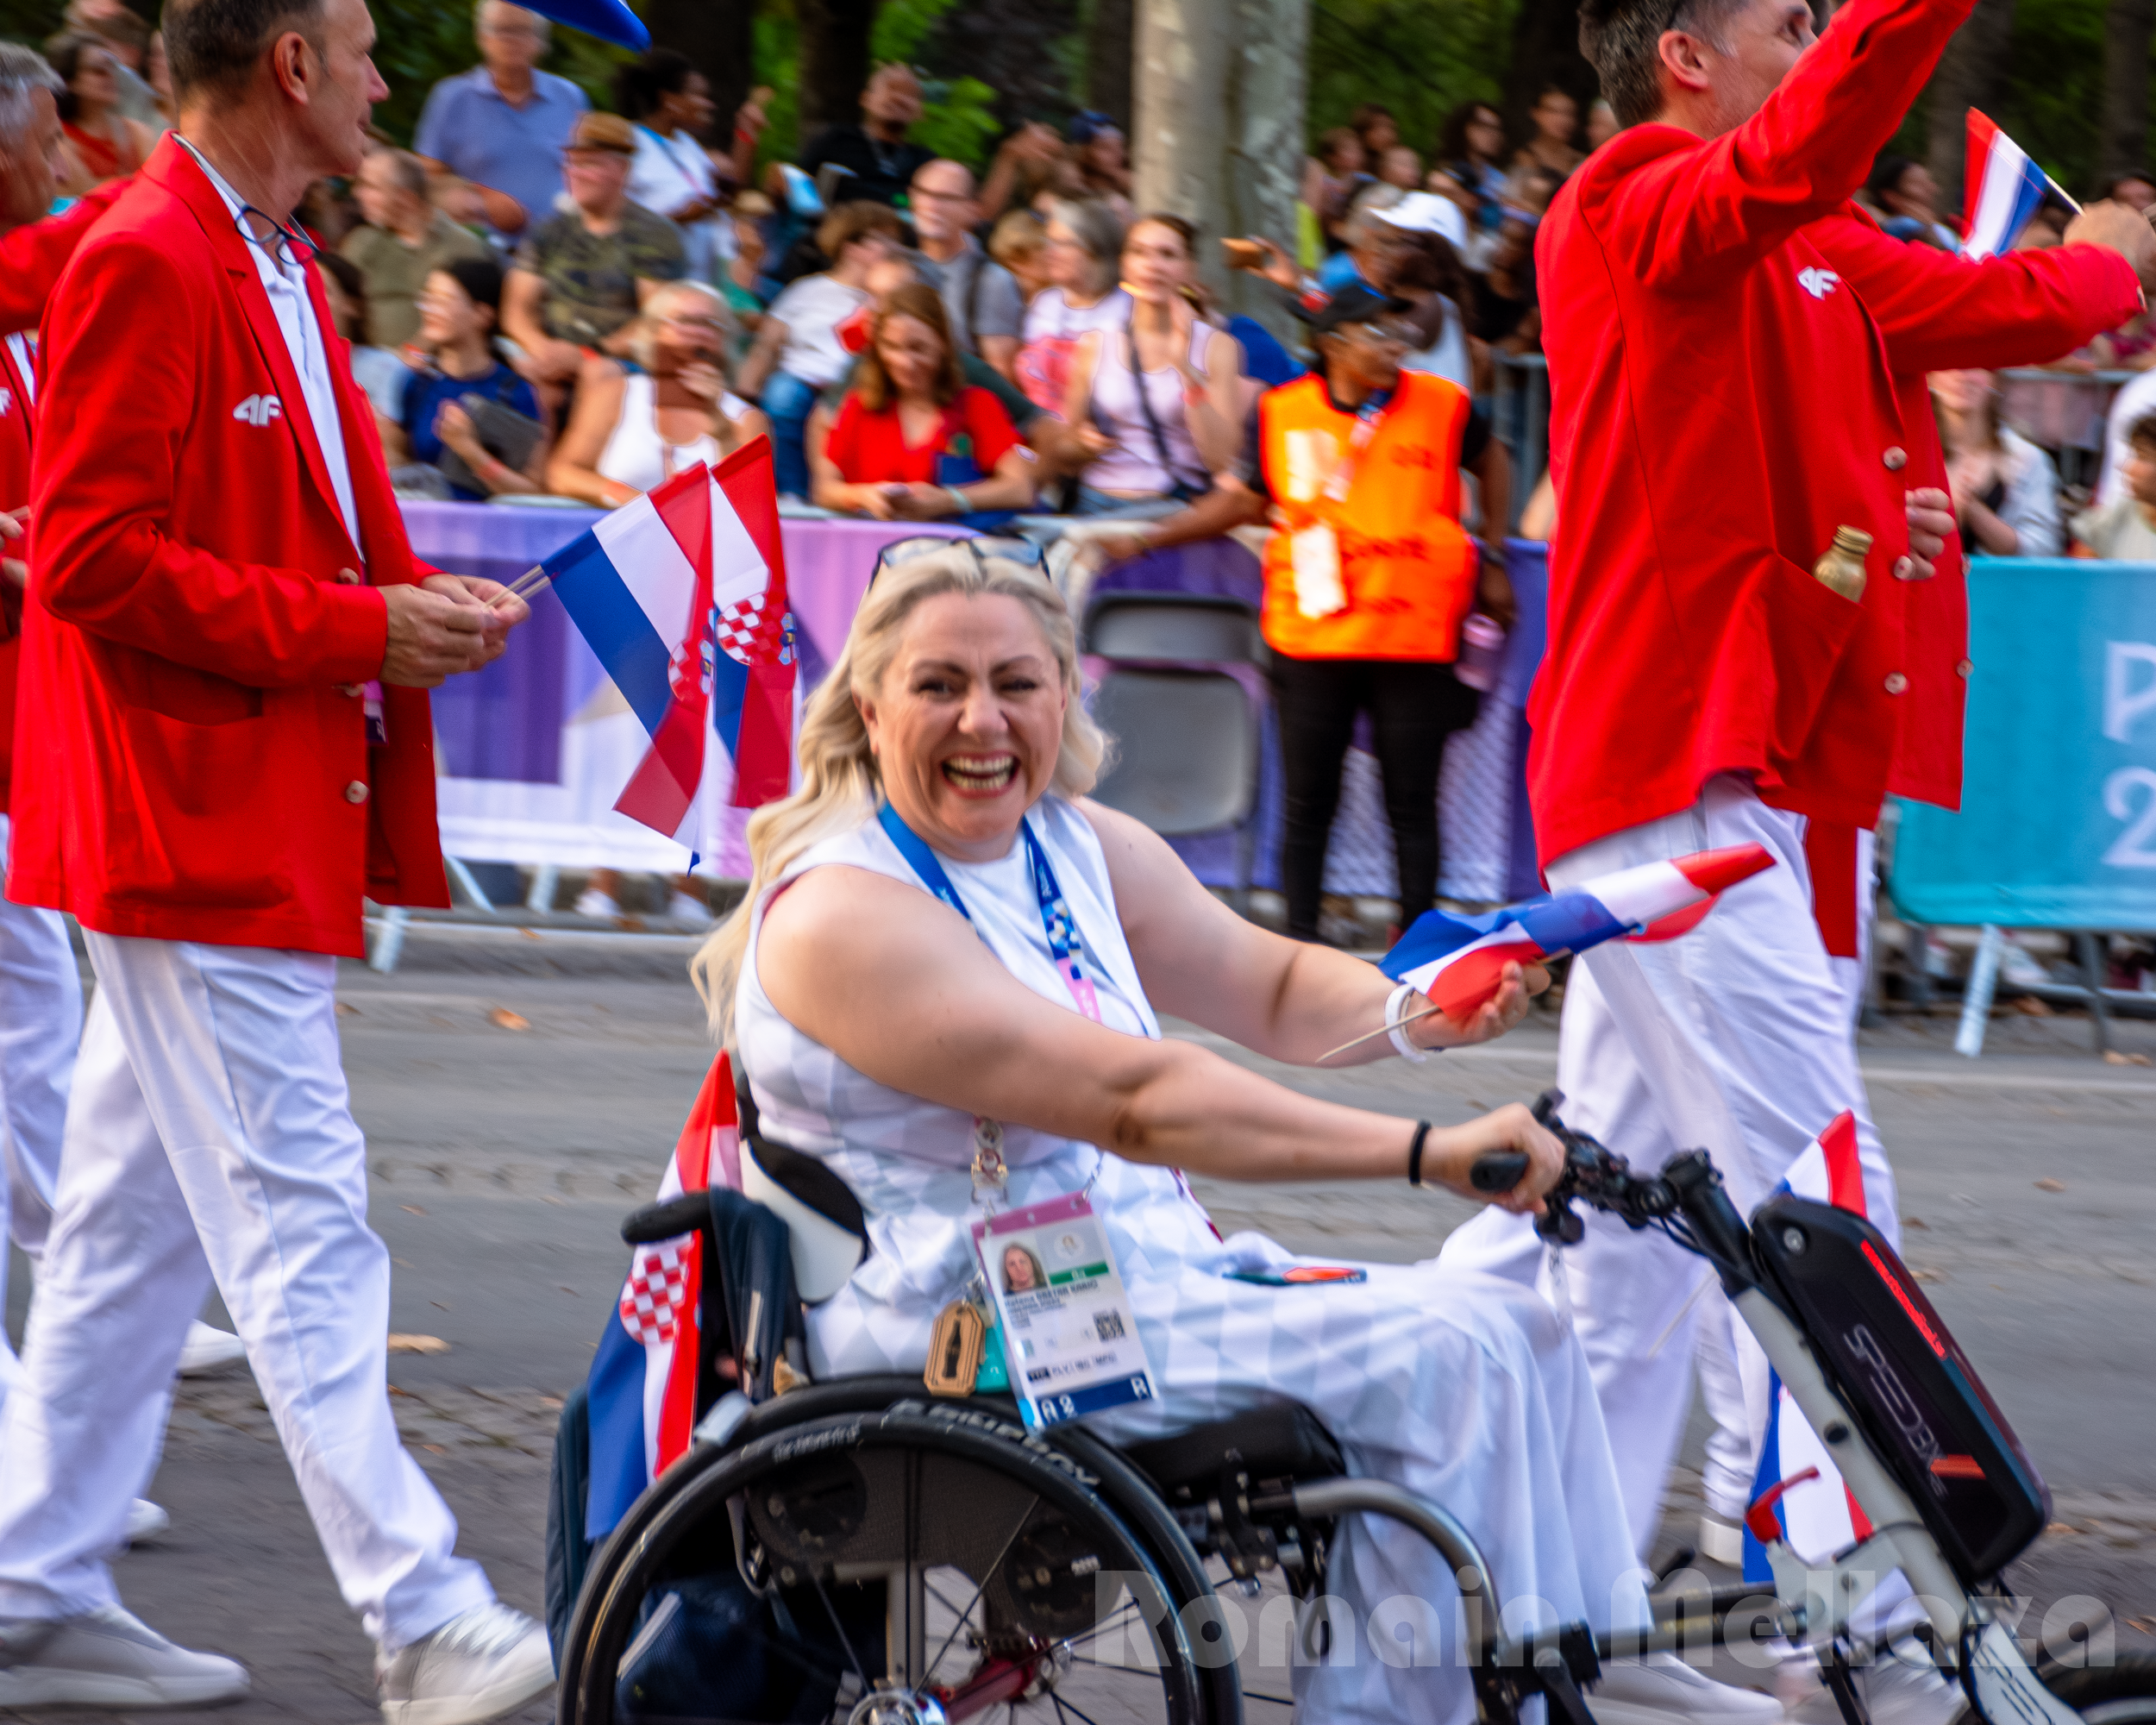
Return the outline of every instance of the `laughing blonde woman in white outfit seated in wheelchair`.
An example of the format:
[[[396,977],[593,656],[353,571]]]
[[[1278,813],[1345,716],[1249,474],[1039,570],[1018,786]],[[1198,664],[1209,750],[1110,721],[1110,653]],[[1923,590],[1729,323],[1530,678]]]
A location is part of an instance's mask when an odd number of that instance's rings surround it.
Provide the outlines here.
[[[1488,1199],[1475,1160],[1524,1151],[1526,1175],[1494,1201],[1529,1210],[1559,1175],[1557,1143],[1520,1106],[1416,1126],[1162,1039],[1156,1013],[1173,1013],[1313,1065],[1423,1003],[1242,921],[1156,834],[1084,800],[1106,746],[1061,597],[1037,569],[959,543],[877,576],[808,701],[800,791],[750,819],[748,899],[699,955],[699,981],[759,1136],[858,1201],[862,1238],[841,1242],[821,1285],[802,1276],[813,1376],[918,1374],[938,1313],[987,1296],[975,1223],[1084,1195],[1151,1374],[1145,1399],[1087,1417],[1097,1434],[1128,1443],[1302,1402],[1350,1473],[1449,1505],[1492,1555],[1501,1600],[1598,1630],[1645,1624],[1587,1363],[1542,1300],[1436,1261],[1371,1264],[1356,1283],[1233,1279],[1294,1257],[1255,1233],[1222,1240],[1181,1175],[1419,1177]],[[1544,983],[1509,970],[1473,1022],[1421,1018],[1352,1057],[1503,1035]],[[1015,1257],[994,1233],[983,1244],[1007,1285]],[[1442,1647],[1406,1669],[1367,1647],[1298,1667],[1302,1719],[1473,1716],[1457,1589],[1432,1546],[1348,1518],[1328,1591],[1356,1634],[1395,1596],[1427,1600]],[[1611,1667],[1593,1708],[1602,1725],[1781,1714],[1667,1658]]]

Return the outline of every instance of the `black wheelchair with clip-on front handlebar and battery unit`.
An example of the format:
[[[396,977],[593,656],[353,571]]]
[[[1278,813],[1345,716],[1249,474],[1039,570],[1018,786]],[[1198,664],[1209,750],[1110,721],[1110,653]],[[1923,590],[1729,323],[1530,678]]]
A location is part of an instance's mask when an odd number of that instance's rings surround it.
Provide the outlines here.
[[[1287,1716],[1279,1680],[1244,1688],[1238,1632],[1248,1626],[1218,1587],[1285,1583],[1287,1598],[1259,1613],[1263,1662],[1283,1650],[1300,1665],[1324,1660],[1335,1628],[1360,1632],[1335,1626],[1324,1604],[1335,1529],[1350,1514],[1401,1522],[1457,1578],[1477,1725],[1518,1725],[1535,1695],[1552,1725],[1593,1725],[1585,1690],[1602,1660],[1764,1639],[1818,1645],[1841,1719],[1869,1725],[1852,1662],[1871,1650],[1852,1613],[1897,1568],[1925,1606],[1927,1658],[1968,1697],[1968,1725],[2156,1725],[2156,1660],[2093,1665],[2014,1639],[2003,1570],[2042,1531],[2048,1494],[1884,1238],[1787,1197],[1746,1223],[1703,1151],[1636,1177],[1570,1132],[1557,1102],[1550,1093],[1535,1108],[1567,1151],[1537,1227],[1557,1244],[1578,1240],[1572,1205],[1583,1203],[1714,1266],[1807,1419],[1837,1445],[1876,1529],[1850,1550],[1824,1565],[1798,1559],[1772,1516],[1777,1488],[1746,1518],[1772,1587],[1662,1593],[1651,1628],[1621,1637],[1585,1624],[1516,1637],[1466,1529],[1438,1503],[1348,1475],[1309,1408],[1261,1406],[1115,1447],[1082,1425],[1031,1432],[1009,1397],[936,1397],[916,1378],[770,1393],[785,1374],[755,1313],[798,1313],[787,1270],[783,1292],[750,1296],[750,1346],[733,1350],[735,1378],[761,1399],[705,1374],[694,1445],[571,1589],[563,1725],[946,1725],[996,1710],[1013,1725],[1235,1725],[1246,1703]],[[1477,1169],[1477,1184],[1505,1190],[1522,1171],[1516,1158],[1485,1184]],[[714,1287],[744,1281],[718,1246],[718,1208],[787,1240],[785,1223],[737,1192],[651,1205],[623,1225],[632,1244],[703,1236],[707,1315]],[[724,1317],[705,1335],[733,1348]],[[1912,1408],[1923,1410],[1915,1447]],[[1953,1440],[1945,1466],[1940,1432]],[[1951,1490],[1938,1484],[1949,1477]]]

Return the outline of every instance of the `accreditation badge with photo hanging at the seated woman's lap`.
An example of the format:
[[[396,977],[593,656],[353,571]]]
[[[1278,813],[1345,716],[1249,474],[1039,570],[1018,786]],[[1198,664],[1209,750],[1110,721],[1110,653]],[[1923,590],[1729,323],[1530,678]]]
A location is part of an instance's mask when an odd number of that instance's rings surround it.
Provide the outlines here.
[[[1026,1425],[1158,1399],[1108,1229],[1084,1192],[987,1216],[972,1244]]]

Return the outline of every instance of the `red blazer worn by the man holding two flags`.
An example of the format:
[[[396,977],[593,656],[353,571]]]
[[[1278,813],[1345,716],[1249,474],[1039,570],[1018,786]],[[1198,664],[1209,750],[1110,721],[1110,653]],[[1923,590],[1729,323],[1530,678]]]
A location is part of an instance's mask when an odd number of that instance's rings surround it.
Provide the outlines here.
[[[336,326],[308,270],[315,319]],[[248,242],[175,138],[45,310],[9,897],[155,940],[360,955],[360,897],[448,903],[427,694],[386,690],[412,558],[330,341],[364,563]]]

